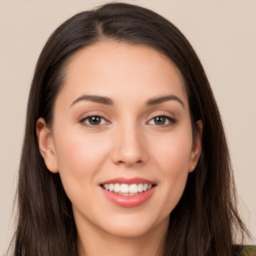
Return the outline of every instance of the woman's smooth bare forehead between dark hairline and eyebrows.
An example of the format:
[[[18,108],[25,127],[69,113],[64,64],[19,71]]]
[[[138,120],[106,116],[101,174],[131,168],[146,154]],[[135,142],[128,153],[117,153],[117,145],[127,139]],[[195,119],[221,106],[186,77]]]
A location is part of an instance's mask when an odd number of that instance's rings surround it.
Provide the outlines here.
[[[187,101],[182,75],[157,50],[128,43],[104,41],[86,46],[69,60],[61,94],[66,100],[79,94],[102,94],[140,100],[176,93]]]

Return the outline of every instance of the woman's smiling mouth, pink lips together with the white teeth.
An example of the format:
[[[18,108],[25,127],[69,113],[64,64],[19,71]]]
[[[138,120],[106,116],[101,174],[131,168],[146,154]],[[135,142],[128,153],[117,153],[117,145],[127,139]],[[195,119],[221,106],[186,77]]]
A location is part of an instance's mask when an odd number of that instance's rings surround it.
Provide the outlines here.
[[[99,185],[104,196],[121,207],[136,207],[144,203],[156,187],[153,181],[139,177],[119,177],[106,180]]]

